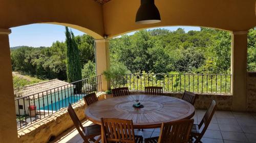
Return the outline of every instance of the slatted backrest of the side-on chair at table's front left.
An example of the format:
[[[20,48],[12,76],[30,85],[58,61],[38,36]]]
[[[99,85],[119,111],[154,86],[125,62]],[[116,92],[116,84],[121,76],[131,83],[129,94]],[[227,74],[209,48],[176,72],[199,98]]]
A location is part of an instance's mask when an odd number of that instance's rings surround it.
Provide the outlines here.
[[[81,137],[83,139],[86,139],[84,136],[84,132],[85,132],[84,128],[83,128],[81,122],[79,121],[78,117],[76,116],[76,113],[70,103],[69,103],[69,107],[68,107],[68,112],[69,112],[69,115],[70,115],[73,123],[75,124],[75,127],[76,127],[78,133],[81,135]]]

